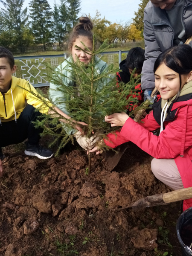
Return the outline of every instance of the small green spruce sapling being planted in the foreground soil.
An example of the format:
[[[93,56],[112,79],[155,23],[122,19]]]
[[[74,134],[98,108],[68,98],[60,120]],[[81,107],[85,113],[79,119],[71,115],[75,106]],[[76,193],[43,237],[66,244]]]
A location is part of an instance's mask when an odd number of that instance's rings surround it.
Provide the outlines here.
[[[126,106],[130,102],[137,103],[137,98],[130,96],[126,99],[127,95],[134,95],[132,90],[135,87],[135,81],[131,79],[129,84],[119,83],[116,87],[116,77],[114,75],[117,70],[113,68],[113,64],[109,65],[105,71],[102,73],[97,73],[96,70],[96,55],[100,54],[109,49],[107,41],[96,50],[95,37],[93,38],[93,51],[86,49],[87,53],[92,56],[90,63],[86,66],[84,63],[77,61],[68,62],[68,73],[72,74],[73,81],[76,86],[67,86],[63,82],[64,74],[62,73],[62,67],[57,68],[53,75],[49,76],[49,81],[57,86],[57,90],[60,91],[62,97],[57,99],[55,105],[64,104],[67,113],[70,113],[70,117],[76,121],[82,121],[87,124],[83,126],[82,129],[85,131],[87,137],[93,136],[94,134],[99,134],[100,138],[106,138],[106,134],[115,131],[115,128],[111,128],[111,125],[105,122],[105,116],[110,115],[115,112],[126,111]],[[85,47],[85,46],[84,46]],[[78,47],[79,48],[79,47]],[[81,48],[79,48],[82,50]],[[83,50],[84,51],[84,50]],[[84,51],[85,52],[85,51]],[[50,72],[51,73],[51,72]],[[47,105],[47,102],[42,99],[41,96],[35,95],[30,91],[35,97],[41,99],[41,101]],[[54,111],[54,109],[52,109]],[[55,116],[55,117],[54,117]],[[73,136],[66,133],[67,129],[74,128],[76,123],[70,122],[67,119],[67,124],[61,124],[59,119],[64,119],[63,116],[58,116],[57,113],[51,115],[44,115],[44,119],[38,120],[37,126],[44,127],[44,134],[54,135],[55,140],[52,144],[61,140],[61,144],[58,151],[64,147],[70,140],[73,142]],[[49,127],[51,125],[51,127]],[[64,125],[64,129],[63,129]],[[61,130],[61,132],[56,133],[56,131]],[[102,147],[107,148],[106,145]],[[58,152],[57,152],[58,153]],[[89,171],[90,171],[91,158],[89,154]]]

